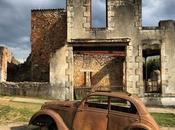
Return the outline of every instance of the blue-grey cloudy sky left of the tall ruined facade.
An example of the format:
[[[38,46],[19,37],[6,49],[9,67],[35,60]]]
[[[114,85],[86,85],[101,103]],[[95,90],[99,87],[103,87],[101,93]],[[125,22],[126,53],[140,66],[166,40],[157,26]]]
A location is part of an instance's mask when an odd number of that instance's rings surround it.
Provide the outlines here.
[[[65,8],[65,0],[0,0],[0,45],[24,60],[31,50],[31,9]]]

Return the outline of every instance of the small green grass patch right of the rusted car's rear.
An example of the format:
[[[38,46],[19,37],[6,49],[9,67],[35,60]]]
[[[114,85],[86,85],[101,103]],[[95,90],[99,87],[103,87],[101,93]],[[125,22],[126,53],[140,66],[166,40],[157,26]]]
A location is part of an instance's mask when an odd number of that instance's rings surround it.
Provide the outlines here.
[[[173,113],[151,113],[160,126],[175,127],[175,114]]]

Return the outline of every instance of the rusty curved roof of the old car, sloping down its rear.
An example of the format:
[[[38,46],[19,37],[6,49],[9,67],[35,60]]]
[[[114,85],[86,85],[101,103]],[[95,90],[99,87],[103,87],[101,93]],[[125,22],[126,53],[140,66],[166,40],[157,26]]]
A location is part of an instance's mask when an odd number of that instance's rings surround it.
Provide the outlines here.
[[[93,92],[90,95],[101,95],[101,96],[118,97],[126,99],[132,102],[136,106],[139,114],[144,115],[148,113],[148,110],[146,109],[143,102],[137,96],[132,95],[128,92]]]

